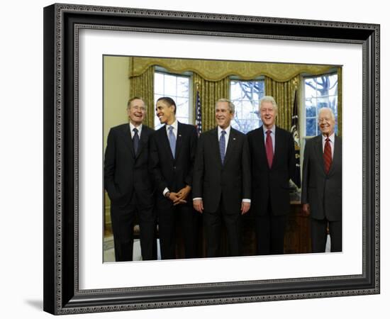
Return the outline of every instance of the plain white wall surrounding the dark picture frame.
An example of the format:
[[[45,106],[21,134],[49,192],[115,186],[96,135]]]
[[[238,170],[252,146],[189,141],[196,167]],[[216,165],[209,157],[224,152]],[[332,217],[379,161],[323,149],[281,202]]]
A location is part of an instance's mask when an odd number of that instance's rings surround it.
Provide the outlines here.
[[[77,4],[203,11],[256,16],[381,23],[381,121],[390,118],[390,21],[385,1],[143,1],[76,0]],[[52,318],[42,311],[43,282],[43,6],[52,1],[8,1],[1,7],[1,293],[3,318]],[[158,45],[156,43],[156,45]],[[119,103],[118,103],[119,107]],[[123,106],[125,107],[125,106]],[[92,115],[93,116],[93,115]],[[382,125],[384,127],[384,125]],[[356,124],[360,138],[360,123]],[[381,140],[388,141],[383,129]],[[278,301],[227,306],[99,313],[77,318],[384,318],[390,299],[389,172],[387,142],[381,145],[381,295]],[[241,269],[245,271],[245,269]]]

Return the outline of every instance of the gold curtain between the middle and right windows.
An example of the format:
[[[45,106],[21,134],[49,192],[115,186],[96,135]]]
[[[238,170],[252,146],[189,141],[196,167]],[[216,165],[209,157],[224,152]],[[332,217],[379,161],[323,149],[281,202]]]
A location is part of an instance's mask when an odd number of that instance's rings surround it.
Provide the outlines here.
[[[299,83],[299,75],[286,82],[277,82],[270,77],[264,77],[265,94],[273,96],[279,108],[276,124],[285,130],[291,128],[295,90],[299,88]]]

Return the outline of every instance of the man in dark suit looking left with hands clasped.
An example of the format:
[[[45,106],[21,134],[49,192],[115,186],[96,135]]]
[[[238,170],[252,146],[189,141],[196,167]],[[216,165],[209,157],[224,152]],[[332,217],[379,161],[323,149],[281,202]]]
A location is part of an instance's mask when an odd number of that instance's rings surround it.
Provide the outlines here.
[[[169,97],[157,100],[156,114],[160,123],[165,124],[150,138],[150,170],[157,188],[161,257],[176,257],[177,221],[184,237],[185,257],[199,257],[198,216],[189,201],[198,134],[194,125],[177,121],[176,103]]]

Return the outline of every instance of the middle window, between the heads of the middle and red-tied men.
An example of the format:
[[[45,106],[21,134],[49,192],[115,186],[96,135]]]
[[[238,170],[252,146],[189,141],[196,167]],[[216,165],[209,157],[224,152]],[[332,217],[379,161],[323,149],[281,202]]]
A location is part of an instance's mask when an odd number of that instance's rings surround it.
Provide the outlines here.
[[[260,128],[259,101],[264,96],[264,80],[230,81],[230,100],[235,105],[235,117],[231,122],[233,128],[247,133]]]

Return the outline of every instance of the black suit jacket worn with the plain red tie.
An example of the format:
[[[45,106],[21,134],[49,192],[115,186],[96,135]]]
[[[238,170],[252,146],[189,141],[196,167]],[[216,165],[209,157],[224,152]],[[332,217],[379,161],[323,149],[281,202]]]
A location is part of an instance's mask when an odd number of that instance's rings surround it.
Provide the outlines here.
[[[287,130],[275,127],[275,148],[269,168],[263,126],[247,133],[252,167],[251,211],[264,216],[271,203],[274,216],[290,211],[289,179],[294,177],[294,139]]]

